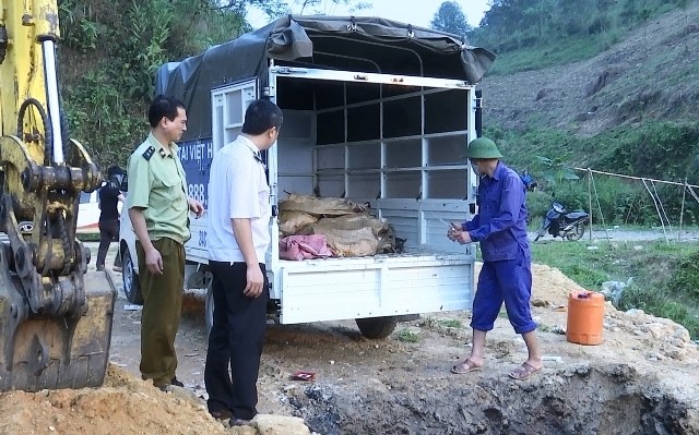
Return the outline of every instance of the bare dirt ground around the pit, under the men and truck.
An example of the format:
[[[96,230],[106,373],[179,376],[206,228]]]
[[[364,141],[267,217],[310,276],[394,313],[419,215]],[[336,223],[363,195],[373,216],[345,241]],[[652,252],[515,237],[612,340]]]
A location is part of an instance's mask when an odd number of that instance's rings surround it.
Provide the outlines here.
[[[110,274],[121,282],[120,274]],[[604,342],[570,343],[561,331],[574,290],[558,270],[534,266],[533,313],[546,361],[542,373],[523,382],[507,376],[526,353],[505,316],[488,334],[486,366],[467,375],[449,373],[469,351],[467,312],[426,315],[376,341],[363,338],[354,322],[270,325],[259,411],[303,418],[323,435],[699,433],[699,352],[687,331],[608,305]],[[205,411],[202,295],[186,297],[176,342],[186,389],[168,394],[139,378],[140,311],[131,309],[120,292],[104,387],[2,394],[0,433],[256,434]],[[299,370],[317,379],[291,380]]]

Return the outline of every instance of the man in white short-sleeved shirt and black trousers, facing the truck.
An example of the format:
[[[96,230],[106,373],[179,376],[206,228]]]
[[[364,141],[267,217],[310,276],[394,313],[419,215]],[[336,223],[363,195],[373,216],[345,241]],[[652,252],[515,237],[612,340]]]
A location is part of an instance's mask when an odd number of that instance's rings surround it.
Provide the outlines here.
[[[266,327],[270,188],[260,152],[280,133],[282,110],[254,100],[241,134],[214,155],[209,182],[209,265],[214,315],[204,383],[209,412],[247,424],[257,414],[257,379]],[[230,365],[230,375],[228,374]]]

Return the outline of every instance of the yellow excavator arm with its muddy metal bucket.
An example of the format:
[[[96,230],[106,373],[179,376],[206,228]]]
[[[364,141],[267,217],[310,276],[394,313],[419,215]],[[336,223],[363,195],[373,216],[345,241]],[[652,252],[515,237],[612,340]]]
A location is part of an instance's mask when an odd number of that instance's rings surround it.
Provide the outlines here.
[[[0,390],[102,385],[115,287],[87,273],[80,192],[102,182],[70,138],[56,0],[0,0]]]

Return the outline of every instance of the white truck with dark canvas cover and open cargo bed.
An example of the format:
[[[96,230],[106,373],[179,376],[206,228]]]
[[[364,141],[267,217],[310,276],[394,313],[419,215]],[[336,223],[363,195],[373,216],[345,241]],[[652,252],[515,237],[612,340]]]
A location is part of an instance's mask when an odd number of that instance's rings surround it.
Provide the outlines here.
[[[212,158],[240,133],[248,104],[264,97],[283,110],[264,156],[273,210],[265,262],[281,324],[356,319],[364,336],[383,338],[402,318],[471,307],[474,246],[446,233],[475,209],[463,148],[479,130],[475,83],[494,58],[453,35],[382,19],[287,16],[159,69],[156,93],[187,106],[179,157],[188,193],[204,207]],[[405,239],[404,251],[280,259],[285,192],[368,203]],[[122,217],[125,290],[139,303],[134,235]],[[206,288],[205,215],[191,231],[186,287]]]

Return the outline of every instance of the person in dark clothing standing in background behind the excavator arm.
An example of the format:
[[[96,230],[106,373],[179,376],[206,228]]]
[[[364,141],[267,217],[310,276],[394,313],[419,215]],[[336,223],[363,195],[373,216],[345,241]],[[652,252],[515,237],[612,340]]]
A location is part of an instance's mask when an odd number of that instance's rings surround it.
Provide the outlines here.
[[[123,169],[118,166],[111,166],[107,169],[107,181],[99,189],[99,247],[97,249],[97,262],[95,263],[97,270],[105,269],[105,259],[109,244],[111,242],[119,243],[119,202],[123,202],[119,176],[123,176]],[[114,259],[114,270],[121,271],[121,256],[117,252]]]

